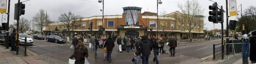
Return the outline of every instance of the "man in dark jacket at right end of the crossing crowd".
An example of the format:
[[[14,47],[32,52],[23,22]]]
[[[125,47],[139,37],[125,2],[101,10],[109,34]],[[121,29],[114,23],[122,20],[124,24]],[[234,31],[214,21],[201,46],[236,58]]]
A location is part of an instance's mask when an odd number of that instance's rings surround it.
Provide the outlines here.
[[[168,46],[170,47],[171,56],[175,56],[175,47],[177,47],[177,40],[174,36],[172,36],[169,40]]]

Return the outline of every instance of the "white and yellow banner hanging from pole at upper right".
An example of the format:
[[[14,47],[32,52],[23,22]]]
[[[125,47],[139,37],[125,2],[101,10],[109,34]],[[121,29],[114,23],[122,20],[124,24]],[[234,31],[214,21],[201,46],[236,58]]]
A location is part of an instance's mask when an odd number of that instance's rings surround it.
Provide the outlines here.
[[[237,16],[237,0],[229,0],[229,16]]]

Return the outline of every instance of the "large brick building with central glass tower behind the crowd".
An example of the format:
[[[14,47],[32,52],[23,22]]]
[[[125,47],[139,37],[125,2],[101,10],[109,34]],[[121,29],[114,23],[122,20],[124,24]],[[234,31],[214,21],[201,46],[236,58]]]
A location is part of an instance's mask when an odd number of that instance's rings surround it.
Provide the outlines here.
[[[173,13],[159,16],[157,22],[156,13],[144,12],[141,13],[140,7],[123,7],[122,15],[106,15],[104,16],[104,21],[102,24],[102,16],[92,16],[83,18],[79,22],[75,22],[74,25],[79,25],[76,28],[73,28],[72,33],[78,33],[78,35],[89,35],[90,31],[88,29],[89,23],[92,22],[92,34],[101,35],[99,28],[101,25],[105,28],[104,34],[111,35],[121,35],[121,36],[140,36],[140,35],[157,35],[162,36],[163,38],[175,36],[178,39],[188,37],[188,31],[182,30],[178,25],[178,22],[175,22],[175,18],[170,17],[173,14],[179,13],[175,11]],[[61,26],[59,24],[51,24],[49,26]],[[62,25],[63,26],[63,25]],[[158,28],[157,28],[158,27]],[[55,27],[54,27],[55,28]],[[62,28],[62,27],[61,27]],[[150,31],[152,29],[152,31]],[[62,30],[66,31],[63,27]],[[50,30],[48,30],[50,31]],[[53,30],[54,31],[54,30]],[[65,33],[65,32],[64,32]],[[67,34],[67,33],[65,33]],[[192,36],[198,37],[203,36],[203,26],[199,26],[195,30],[192,30]]]

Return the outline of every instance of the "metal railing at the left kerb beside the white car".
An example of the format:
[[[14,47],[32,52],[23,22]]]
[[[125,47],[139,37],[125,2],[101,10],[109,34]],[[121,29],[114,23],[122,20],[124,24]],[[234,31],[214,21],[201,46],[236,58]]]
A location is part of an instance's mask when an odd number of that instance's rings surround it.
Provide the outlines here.
[[[20,38],[19,38],[19,39],[20,39]],[[18,55],[19,49],[20,49],[20,50],[23,50],[23,51],[24,51],[24,56],[27,56],[27,36],[25,36],[25,39],[22,39],[22,40],[24,40],[25,42],[20,42],[20,41],[18,41],[19,45],[18,45],[18,47],[17,47],[16,53],[17,53],[17,55]]]

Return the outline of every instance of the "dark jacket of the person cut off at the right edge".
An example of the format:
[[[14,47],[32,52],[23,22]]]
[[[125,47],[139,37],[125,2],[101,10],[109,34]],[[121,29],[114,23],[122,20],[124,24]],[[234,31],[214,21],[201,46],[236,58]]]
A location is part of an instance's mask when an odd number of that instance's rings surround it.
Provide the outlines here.
[[[250,61],[256,61],[256,36],[250,36]]]

